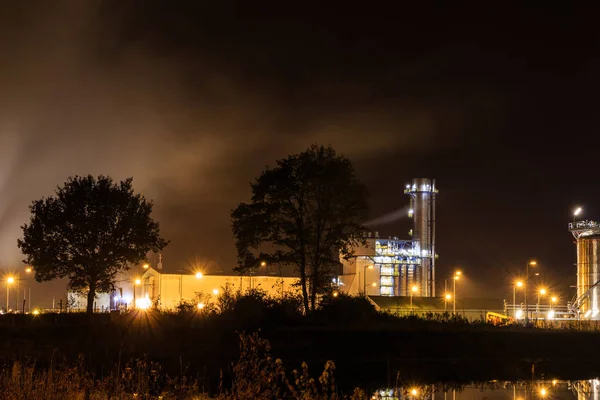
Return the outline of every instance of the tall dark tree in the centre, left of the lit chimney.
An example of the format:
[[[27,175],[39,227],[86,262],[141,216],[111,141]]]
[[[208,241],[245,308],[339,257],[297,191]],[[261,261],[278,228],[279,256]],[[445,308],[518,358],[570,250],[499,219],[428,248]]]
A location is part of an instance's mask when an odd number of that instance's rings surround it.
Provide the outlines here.
[[[261,261],[293,265],[305,312],[314,311],[317,296],[331,286],[340,254],[351,256],[364,241],[365,186],[347,158],[313,145],[264,170],[251,188],[251,202],[231,213],[237,271]]]

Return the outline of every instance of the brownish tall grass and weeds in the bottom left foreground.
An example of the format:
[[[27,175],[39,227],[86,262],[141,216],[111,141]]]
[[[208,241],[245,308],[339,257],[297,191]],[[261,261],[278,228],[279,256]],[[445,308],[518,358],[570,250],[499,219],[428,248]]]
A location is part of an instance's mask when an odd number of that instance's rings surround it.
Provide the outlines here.
[[[219,385],[216,400],[291,399],[363,400],[363,391],[349,396],[338,393],[335,365],[325,364],[322,373],[311,377],[308,365],[288,373],[282,360],[270,354],[270,344],[257,333],[240,335],[240,357],[232,364],[231,381]],[[192,377],[173,378],[161,366],[147,360],[132,360],[124,368],[115,366],[108,376],[96,378],[79,358],[75,365],[51,365],[15,361],[0,367],[2,400],[203,400],[203,393]]]

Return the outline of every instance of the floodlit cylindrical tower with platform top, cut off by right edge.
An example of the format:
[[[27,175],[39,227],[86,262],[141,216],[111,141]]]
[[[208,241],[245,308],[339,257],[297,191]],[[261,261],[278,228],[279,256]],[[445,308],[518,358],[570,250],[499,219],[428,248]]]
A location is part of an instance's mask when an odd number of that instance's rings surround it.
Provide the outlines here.
[[[577,300],[573,306],[582,318],[600,320],[600,223],[571,222],[569,231],[577,240]]]

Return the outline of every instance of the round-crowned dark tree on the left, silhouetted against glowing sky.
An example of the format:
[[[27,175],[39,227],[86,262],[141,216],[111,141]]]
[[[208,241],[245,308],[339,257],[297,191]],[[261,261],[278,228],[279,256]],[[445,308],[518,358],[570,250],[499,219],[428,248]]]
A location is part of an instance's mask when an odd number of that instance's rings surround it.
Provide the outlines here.
[[[114,289],[118,272],[167,245],[150,217],[152,202],[133,192],[132,181],[71,177],[55,196],[34,201],[22,226],[18,246],[36,281],[69,278],[72,290],[87,293],[88,314],[97,292]]]

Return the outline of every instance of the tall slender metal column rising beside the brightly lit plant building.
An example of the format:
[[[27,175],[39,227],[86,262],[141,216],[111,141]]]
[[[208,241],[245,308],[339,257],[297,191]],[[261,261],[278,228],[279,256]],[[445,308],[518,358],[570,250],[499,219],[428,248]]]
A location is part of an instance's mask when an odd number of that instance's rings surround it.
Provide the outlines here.
[[[414,253],[421,257],[416,282],[421,296],[435,296],[435,180],[416,178],[404,191],[411,198]]]

